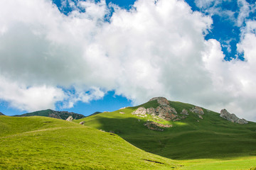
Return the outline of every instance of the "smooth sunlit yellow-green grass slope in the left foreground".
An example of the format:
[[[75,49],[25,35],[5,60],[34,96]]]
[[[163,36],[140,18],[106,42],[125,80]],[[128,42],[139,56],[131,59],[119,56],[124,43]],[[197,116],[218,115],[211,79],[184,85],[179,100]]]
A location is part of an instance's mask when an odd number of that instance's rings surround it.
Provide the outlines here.
[[[0,169],[176,169],[109,132],[55,118],[0,116]]]

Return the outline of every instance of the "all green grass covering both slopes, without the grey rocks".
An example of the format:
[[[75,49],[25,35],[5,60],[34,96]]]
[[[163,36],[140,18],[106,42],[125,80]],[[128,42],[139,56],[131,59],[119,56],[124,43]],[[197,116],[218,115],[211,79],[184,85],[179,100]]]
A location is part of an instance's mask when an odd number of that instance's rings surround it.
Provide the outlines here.
[[[73,122],[1,115],[0,169],[256,169],[256,123],[230,123],[204,108],[200,119],[189,111],[193,105],[170,104],[177,113],[186,108],[188,117],[132,115],[140,106]],[[147,121],[172,127],[149,130]]]

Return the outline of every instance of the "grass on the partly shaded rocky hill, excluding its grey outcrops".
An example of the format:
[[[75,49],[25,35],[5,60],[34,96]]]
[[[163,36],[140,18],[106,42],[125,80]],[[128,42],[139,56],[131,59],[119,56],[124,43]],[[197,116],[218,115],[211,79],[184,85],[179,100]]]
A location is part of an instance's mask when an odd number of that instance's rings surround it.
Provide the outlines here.
[[[256,123],[230,123],[220,118],[219,113],[206,109],[203,109],[205,115],[201,120],[196,113],[189,111],[193,105],[174,101],[170,101],[170,104],[178,113],[186,108],[189,116],[176,122],[159,121],[173,125],[172,128],[165,128],[164,132],[149,130],[144,126],[147,120],[153,120],[150,115],[141,118],[131,114],[139,106],[74,121],[84,120],[85,125],[92,128],[114,131],[146,152],[180,160],[190,167],[188,169],[199,169],[199,166],[206,166],[205,164],[209,164],[208,169],[227,168],[220,164],[228,164],[229,169],[249,169],[256,166],[252,163],[256,162]],[[150,101],[142,106],[156,108],[158,103]],[[186,166],[183,169],[186,169]]]

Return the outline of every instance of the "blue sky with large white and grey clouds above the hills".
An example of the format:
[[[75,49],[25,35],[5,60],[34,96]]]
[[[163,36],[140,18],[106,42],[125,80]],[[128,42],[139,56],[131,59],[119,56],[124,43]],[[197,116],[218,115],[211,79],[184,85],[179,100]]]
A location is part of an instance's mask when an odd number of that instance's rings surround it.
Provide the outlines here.
[[[155,96],[256,121],[255,0],[1,0],[0,112]]]

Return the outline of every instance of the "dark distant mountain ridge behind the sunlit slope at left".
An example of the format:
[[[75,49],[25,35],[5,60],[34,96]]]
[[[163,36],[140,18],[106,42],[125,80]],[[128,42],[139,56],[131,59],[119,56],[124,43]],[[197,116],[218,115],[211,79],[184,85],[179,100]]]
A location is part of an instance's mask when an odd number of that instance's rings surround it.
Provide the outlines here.
[[[58,119],[63,119],[66,120],[70,115],[74,119],[81,119],[85,118],[85,115],[81,115],[78,113],[73,113],[73,112],[68,112],[68,111],[53,111],[53,110],[43,110],[43,111],[35,111],[32,113],[25,113],[23,115],[14,115],[15,117],[26,117],[26,116],[33,116],[33,115],[38,115],[38,116],[45,116],[45,117],[50,117],[50,118],[58,118]]]

